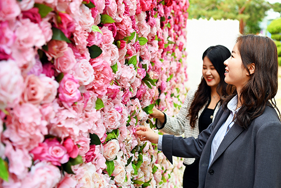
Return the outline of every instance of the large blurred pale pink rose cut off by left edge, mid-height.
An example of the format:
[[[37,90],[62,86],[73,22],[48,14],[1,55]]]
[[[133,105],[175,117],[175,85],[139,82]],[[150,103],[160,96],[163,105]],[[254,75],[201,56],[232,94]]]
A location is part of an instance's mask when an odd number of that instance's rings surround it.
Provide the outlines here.
[[[13,60],[1,61],[0,109],[13,108],[19,102],[24,78]]]

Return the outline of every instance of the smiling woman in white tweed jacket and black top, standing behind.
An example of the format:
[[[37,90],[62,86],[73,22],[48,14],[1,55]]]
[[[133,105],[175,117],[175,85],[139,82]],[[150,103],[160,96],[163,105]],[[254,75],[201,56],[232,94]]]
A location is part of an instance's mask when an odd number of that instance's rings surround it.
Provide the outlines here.
[[[184,133],[185,137],[197,138],[198,134],[213,122],[222,98],[227,95],[223,62],[229,56],[229,50],[222,45],[207,48],[202,56],[202,79],[199,87],[189,91],[179,114],[175,117],[169,117],[154,108],[150,117],[157,118],[156,127],[168,134]],[[183,164],[183,187],[197,188],[199,158],[186,158]]]

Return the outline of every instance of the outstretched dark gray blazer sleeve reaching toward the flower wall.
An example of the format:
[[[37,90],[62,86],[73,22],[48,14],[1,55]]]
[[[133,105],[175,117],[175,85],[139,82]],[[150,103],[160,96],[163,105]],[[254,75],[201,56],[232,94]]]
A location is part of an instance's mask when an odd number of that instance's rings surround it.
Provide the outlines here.
[[[205,147],[205,144],[213,132],[215,124],[202,131],[198,138],[181,136],[163,135],[162,137],[162,152],[167,159],[173,164],[172,156],[184,158],[199,158]]]

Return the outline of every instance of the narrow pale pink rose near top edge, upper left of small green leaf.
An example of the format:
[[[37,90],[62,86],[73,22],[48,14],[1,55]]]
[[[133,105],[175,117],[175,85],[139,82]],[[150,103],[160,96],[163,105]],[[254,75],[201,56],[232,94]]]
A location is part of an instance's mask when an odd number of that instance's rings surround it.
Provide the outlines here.
[[[79,24],[85,31],[91,32],[91,27],[93,25],[94,20],[91,15],[90,9],[82,4],[80,6],[80,14],[81,16],[79,17]]]

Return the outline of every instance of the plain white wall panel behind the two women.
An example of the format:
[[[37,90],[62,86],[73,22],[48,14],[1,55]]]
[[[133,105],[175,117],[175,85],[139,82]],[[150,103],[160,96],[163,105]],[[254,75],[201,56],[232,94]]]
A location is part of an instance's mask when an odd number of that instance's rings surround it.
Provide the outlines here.
[[[238,20],[188,19],[186,25],[188,82],[190,89],[199,85],[202,77],[202,55],[210,46],[223,45],[232,51],[239,33]]]

